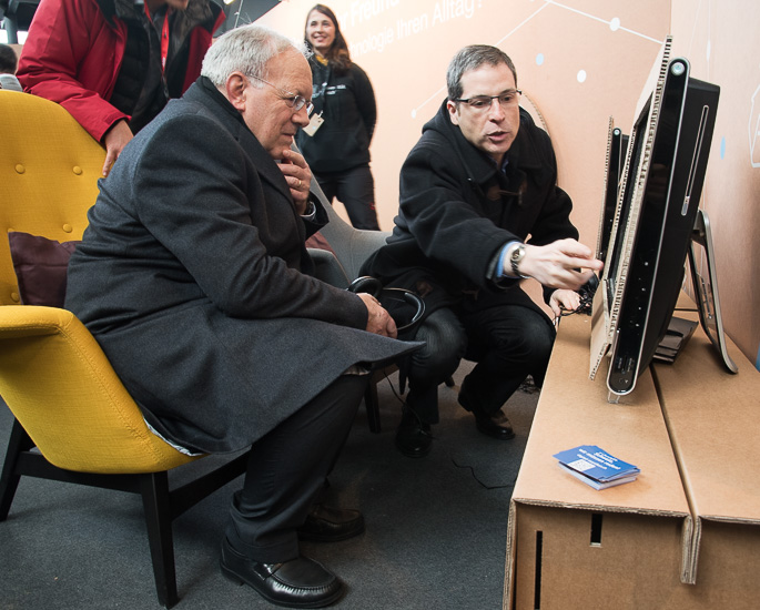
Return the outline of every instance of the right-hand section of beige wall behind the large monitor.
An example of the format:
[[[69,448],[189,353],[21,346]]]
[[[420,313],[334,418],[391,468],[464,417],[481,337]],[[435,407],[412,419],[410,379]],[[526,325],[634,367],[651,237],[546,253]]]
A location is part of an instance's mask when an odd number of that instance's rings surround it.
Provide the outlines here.
[[[673,0],[673,52],[720,85],[702,196],[716,245],[723,324],[760,368],[760,2]]]

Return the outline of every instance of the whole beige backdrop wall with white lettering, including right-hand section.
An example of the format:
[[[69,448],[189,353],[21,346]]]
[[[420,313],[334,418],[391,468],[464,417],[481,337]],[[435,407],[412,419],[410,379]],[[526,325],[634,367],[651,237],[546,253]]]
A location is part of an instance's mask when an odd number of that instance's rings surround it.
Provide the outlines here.
[[[260,22],[301,38],[314,3],[286,0]],[[672,32],[675,51],[692,60],[695,75],[723,87],[706,201],[717,228],[727,328],[748,357],[756,359],[760,331],[752,312],[760,308],[760,288],[751,282],[750,270],[758,262],[752,236],[759,213],[750,202],[757,193],[760,145],[757,152],[753,144],[748,145],[747,125],[750,122],[750,132],[757,130],[750,114],[754,112],[754,120],[760,116],[760,92],[756,91],[760,84],[760,42],[756,35],[760,3],[721,2],[720,16],[717,0],[325,3],[338,17],[353,60],[375,88],[378,123],[372,169],[379,222],[385,230],[393,226],[397,210],[401,165],[423,124],[446,95],[448,61],[466,44],[487,43],[499,47],[515,61],[518,87],[528,98],[525,103],[530,106],[529,101],[534,102],[554,141],[559,183],[572,196],[572,218],[581,241],[594,246],[609,116],[629,130],[651,64],[666,35]],[[751,78],[746,72],[751,72]],[[723,136],[728,160],[721,159]],[[752,142],[751,135],[749,140]],[[751,162],[750,152],[754,155]],[[723,170],[727,165],[731,166],[729,172]],[[713,206],[720,211],[713,212]]]

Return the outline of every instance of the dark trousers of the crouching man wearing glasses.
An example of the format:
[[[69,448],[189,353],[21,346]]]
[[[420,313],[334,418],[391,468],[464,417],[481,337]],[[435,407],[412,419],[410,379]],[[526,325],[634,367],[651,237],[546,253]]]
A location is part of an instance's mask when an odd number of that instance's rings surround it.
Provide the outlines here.
[[[515,288],[519,291],[519,288]],[[416,332],[427,345],[409,356],[407,405],[427,424],[438,421],[438,385],[450,377],[463,357],[478,363],[462,385],[459,401],[493,415],[528,375],[544,383],[555,328],[523,291],[515,303],[463,312],[437,309]]]

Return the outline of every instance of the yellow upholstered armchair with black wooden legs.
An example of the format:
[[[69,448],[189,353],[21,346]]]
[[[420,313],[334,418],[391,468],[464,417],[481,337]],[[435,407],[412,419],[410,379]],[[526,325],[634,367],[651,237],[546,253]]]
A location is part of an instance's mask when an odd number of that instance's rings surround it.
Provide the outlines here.
[[[100,144],[60,105],[14,91],[0,91],[0,227],[80,240],[105,157]],[[172,520],[241,475],[247,454],[213,470],[202,468],[202,476],[170,489],[168,470],[199,458],[151,433],[97,340],[71,312],[19,303],[3,238],[0,396],[16,419],[0,475],[0,522],[22,476],[140,494],[159,601],[170,608],[179,600]],[[197,474],[192,465],[185,468]]]

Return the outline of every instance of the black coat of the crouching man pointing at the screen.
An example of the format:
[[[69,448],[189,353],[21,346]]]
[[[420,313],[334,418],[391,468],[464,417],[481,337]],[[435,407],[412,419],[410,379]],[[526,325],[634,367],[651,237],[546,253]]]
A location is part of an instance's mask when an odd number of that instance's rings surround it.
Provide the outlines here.
[[[402,167],[393,234],[362,273],[424,295],[426,315],[458,306],[465,295],[483,306],[514,302],[516,282],[493,278],[501,247],[578,232],[570,197],[557,186],[549,136],[524,110],[507,159],[505,175],[452,123],[444,102]]]

